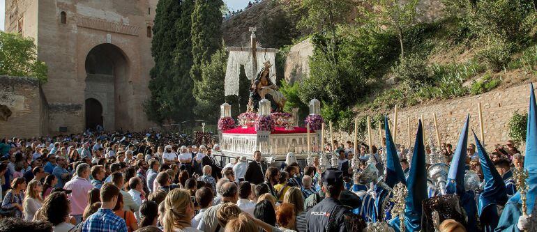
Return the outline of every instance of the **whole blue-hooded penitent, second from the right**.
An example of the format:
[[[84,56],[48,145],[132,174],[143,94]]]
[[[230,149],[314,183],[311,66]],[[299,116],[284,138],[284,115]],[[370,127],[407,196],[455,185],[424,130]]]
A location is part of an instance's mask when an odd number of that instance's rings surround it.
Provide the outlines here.
[[[483,192],[478,201],[478,215],[483,231],[493,231],[499,221],[496,206],[504,206],[508,199],[506,185],[504,180],[501,179],[500,173],[492,164],[487,151],[477,139],[476,133],[474,133],[474,139],[476,140],[479,162],[481,162],[481,170],[485,179],[485,187],[483,187]]]

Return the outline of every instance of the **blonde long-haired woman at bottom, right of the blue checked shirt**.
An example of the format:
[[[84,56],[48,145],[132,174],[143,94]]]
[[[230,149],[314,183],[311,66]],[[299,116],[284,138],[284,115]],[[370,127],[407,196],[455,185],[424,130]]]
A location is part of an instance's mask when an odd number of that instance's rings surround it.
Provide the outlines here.
[[[195,209],[188,190],[170,191],[164,200],[164,207],[162,222],[165,232],[202,232],[192,228],[190,224]]]

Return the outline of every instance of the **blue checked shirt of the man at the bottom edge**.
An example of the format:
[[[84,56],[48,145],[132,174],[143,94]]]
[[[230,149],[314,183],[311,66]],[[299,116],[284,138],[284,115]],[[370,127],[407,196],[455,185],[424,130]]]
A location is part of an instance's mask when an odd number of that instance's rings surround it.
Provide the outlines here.
[[[127,224],[123,218],[114,214],[114,211],[100,208],[89,216],[82,226],[82,232],[127,232]]]

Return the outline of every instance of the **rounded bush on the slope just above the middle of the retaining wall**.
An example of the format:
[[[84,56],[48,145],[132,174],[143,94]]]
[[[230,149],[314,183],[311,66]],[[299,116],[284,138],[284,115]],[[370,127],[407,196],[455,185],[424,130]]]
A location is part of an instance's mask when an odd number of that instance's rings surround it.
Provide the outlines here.
[[[434,82],[427,63],[418,56],[407,56],[392,71],[396,79],[402,80],[414,90]]]

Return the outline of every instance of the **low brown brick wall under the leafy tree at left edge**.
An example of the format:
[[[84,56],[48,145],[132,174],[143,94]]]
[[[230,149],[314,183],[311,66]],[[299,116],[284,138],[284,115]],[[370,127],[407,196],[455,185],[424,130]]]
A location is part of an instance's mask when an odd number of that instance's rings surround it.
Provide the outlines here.
[[[0,119],[0,137],[32,137],[43,134],[43,108],[38,80],[32,77],[0,76],[0,105],[13,112]]]

